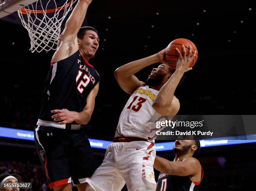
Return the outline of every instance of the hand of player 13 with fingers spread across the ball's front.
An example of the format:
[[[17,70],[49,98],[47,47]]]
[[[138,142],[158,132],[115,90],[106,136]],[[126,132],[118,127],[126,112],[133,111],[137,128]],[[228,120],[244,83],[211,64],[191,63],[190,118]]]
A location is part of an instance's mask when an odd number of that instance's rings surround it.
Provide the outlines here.
[[[179,59],[177,62],[177,66],[176,66],[176,70],[180,70],[182,72],[186,72],[189,70],[192,70],[191,67],[189,67],[189,64],[194,60],[197,51],[194,52],[194,54],[191,56],[192,53],[192,46],[189,46],[189,53],[186,56],[186,48],[185,46],[182,44],[182,50],[183,50],[183,55],[180,53],[178,48],[175,48],[177,53],[179,54]]]

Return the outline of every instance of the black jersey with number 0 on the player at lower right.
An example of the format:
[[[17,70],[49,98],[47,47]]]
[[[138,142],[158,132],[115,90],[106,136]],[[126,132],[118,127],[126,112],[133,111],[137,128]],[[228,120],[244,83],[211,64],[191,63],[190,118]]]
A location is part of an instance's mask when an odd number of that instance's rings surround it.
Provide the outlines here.
[[[192,182],[188,176],[174,176],[160,173],[157,181],[158,191],[197,191],[203,176],[203,169],[200,182]]]

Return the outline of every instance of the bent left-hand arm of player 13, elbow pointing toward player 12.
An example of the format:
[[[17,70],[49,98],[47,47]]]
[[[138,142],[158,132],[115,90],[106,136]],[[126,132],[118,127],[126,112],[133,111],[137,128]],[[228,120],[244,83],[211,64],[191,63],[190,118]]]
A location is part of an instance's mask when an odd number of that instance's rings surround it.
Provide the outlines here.
[[[164,49],[165,50],[165,49]],[[134,74],[136,74],[141,69],[149,66],[151,64],[161,62],[159,53],[148,56],[143,59],[132,61],[128,64],[120,66],[115,70],[115,79],[118,81],[119,86],[128,94],[132,94],[136,88],[144,84],[143,81],[139,81]]]

